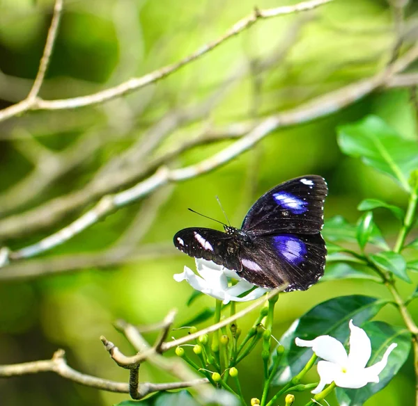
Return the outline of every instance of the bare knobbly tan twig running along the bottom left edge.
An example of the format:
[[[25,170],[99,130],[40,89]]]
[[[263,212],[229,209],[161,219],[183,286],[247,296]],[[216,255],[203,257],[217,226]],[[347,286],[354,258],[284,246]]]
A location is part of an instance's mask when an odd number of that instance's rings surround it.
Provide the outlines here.
[[[63,350],[57,350],[52,359],[24,362],[23,364],[0,365],[0,377],[22,376],[41,372],[54,372],[65,379],[77,382],[78,384],[82,384],[86,387],[93,387],[95,389],[102,389],[109,392],[129,393],[129,385],[127,383],[105,380],[100,377],[86,375],[75,371],[75,369],[68,366],[65,361],[65,352]],[[138,398],[144,398],[144,396],[149,393],[157,391],[194,387],[206,382],[208,382],[208,380],[205,378],[187,382],[172,382],[164,384],[144,382],[139,384]]]

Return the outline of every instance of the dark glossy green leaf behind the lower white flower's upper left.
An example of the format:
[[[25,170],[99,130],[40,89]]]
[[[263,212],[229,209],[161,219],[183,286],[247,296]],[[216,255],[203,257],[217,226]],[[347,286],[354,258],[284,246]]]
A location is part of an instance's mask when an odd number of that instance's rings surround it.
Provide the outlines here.
[[[371,319],[389,300],[371,298],[364,295],[350,295],[333,298],[318,304],[309,310],[297,323],[295,330],[288,337],[291,348],[288,351],[289,368],[285,368],[274,377],[274,383],[284,382],[302,371],[312,356],[311,348],[297,347],[295,337],[312,340],[317,336],[329,334],[341,342],[348,339],[348,322],[353,319],[355,325],[362,325]]]

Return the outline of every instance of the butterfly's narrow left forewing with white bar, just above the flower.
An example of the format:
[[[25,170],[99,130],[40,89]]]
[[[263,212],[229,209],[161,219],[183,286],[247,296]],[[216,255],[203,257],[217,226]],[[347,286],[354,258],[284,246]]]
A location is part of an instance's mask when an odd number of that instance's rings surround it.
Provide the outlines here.
[[[178,250],[189,257],[203,258],[233,270],[241,270],[240,241],[224,232],[207,228],[186,228],[173,238]]]

